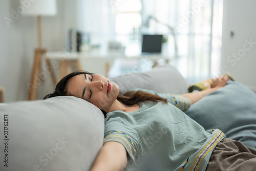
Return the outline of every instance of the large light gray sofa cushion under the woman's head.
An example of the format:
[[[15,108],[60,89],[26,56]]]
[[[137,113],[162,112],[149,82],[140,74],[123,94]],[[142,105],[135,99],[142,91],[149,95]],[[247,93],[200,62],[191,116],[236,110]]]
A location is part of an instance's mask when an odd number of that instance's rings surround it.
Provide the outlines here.
[[[4,115],[8,115],[7,137]],[[103,144],[104,116],[76,97],[3,105],[0,119],[0,170],[89,170]],[[3,163],[5,154],[8,167]]]

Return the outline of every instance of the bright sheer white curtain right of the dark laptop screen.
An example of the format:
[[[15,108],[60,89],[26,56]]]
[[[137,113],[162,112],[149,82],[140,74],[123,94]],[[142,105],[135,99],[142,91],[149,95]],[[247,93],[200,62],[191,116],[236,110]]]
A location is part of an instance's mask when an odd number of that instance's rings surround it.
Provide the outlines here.
[[[178,57],[171,61],[189,83],[216,77],[220,68],[223,0],[143,0],[142,21],[154,16],[174,28]],[[151,33],[168,34],[168,28],[152,20]],[[174,55],[173,36],[168,51]]]

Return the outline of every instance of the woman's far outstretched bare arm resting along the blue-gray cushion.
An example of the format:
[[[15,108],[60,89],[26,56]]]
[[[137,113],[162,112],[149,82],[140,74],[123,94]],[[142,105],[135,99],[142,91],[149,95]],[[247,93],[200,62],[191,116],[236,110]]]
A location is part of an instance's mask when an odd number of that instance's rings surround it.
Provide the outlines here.
[[[216,78],[215,85],[211,86],[208,90],[203,90],[195,93],[186,93],[182,94],[183,97],[187,98],[190,101],[190,105],[194,104],[201,98],[203,98],[205,95],[210,94],[212,92],[215,92],[216,90],[226,86],[228,80],[228,76],[221,76],[219,78]]]

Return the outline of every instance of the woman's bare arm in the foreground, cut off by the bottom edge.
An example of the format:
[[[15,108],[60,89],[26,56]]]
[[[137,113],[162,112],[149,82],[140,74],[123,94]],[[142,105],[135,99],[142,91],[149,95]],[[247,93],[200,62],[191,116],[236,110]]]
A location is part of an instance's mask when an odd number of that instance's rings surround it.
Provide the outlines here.
[[[91,171],[123,170],[127,164],[125,147],[116,141],[104,143],[96,157]]]

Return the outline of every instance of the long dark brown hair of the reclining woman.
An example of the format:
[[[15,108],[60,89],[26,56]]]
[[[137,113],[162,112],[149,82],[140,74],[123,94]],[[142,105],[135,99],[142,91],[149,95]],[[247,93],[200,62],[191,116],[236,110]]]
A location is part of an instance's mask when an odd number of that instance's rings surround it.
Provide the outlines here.
[[[70,78],[79,75],[79,74],[89,74],[92,75],[93,73],[87,72],[87,71],[75,71],[67,76],[63,77],[56,85],[54,92],[46,95],[44,99],[48,99],[51,97],[56,96],[69,96],[69,92],[67,90],[67,82]],[[152,101],[152,102],[163,102],[167,103],[167,99],[159,97],[154,94],[142,92],[142,91],[127,91],[124,94],[119,94],[117,96],[117,100],[122,102],[123,104],[127,106],[131,106],[134,104],[138,104],[139,102],[144,101]],[[101,110],[102,111],[102,110]],[[104,111],[102,111],[104,115],[106,114]]]

